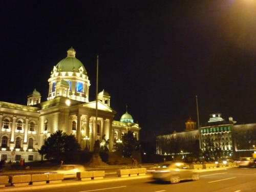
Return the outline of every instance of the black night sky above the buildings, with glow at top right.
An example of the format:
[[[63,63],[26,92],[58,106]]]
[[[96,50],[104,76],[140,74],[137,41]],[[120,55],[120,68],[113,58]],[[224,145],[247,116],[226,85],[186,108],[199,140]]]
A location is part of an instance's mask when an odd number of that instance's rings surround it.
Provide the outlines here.
[[[183,131],[209,114],[255,122],[256,3],[253,1],[1,1],[0,100],[48,96],[53,66],[73,46],[118,120],[125,103],[141,139]]]

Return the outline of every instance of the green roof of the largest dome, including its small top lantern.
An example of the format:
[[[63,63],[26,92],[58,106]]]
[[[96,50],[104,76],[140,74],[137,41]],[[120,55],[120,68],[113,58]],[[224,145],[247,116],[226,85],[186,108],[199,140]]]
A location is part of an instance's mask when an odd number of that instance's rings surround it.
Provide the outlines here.
[[[68,56],[59,61],[56,65],[58,72],[77,72],[87,74],[82,62],[76,58],[76,51],[71,47]]]

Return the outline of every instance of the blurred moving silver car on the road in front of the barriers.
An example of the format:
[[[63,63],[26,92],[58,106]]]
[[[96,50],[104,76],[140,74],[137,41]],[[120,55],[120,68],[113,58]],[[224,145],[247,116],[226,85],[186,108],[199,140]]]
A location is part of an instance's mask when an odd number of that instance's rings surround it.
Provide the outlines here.
[[[152,174],[153,179],[170,183],[179,183],[181,180],[199,180],[199,174],[188,169],[183,162],[165,162],[159,165]]]

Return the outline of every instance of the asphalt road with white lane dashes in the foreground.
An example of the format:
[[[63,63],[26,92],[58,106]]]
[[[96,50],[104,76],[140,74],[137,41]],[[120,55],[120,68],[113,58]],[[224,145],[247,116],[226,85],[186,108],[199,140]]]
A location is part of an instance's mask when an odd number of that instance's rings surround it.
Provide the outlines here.
[[[255,192],[256,168],[229,168],[200,173],[200,180],[185,181],[177,184],[157,183],[152,179],[133,179],[108,183],[84,184],[49,188],[54,192]],[[30,190],[45,191],[45,190]]]

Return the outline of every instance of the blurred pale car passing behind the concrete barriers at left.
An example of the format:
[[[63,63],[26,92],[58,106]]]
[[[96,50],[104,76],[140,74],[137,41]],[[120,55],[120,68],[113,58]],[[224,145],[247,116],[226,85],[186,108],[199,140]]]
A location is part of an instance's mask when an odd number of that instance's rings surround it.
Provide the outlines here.
[[[84,172],[85,170],[82,165],[61,165],[56,172],[64,174],[64,178],[74,178],[77,172]]]

